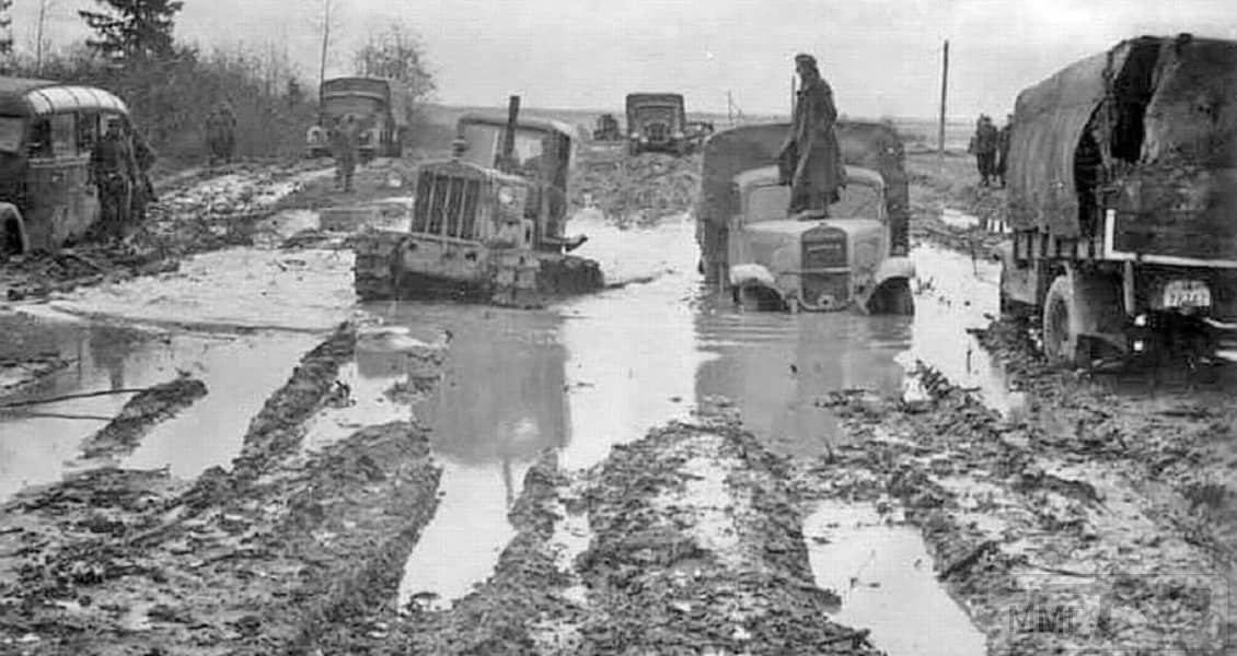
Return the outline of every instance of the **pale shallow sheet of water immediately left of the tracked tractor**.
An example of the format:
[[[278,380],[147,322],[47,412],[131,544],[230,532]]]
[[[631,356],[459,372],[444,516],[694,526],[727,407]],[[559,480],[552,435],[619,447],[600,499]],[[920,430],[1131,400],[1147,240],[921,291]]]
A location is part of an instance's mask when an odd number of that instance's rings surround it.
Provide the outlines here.
[[[189,258],[174,273],[79,289],[28,311],[327,331],[351,315],[351,268],[350,252],[231,248]]]

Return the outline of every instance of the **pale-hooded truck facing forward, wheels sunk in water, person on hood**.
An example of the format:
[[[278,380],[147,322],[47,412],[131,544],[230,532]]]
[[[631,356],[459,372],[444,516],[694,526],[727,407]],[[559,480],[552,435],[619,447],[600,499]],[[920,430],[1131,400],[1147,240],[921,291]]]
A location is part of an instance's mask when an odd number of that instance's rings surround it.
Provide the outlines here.
[[[704,147],[696,240],[705,280],[736,300],[797,310],[912,314],[902,140],[876,122],[836,125],[846,187],[820,219],[787,216],[777,158],[789,124],[746,125]]]

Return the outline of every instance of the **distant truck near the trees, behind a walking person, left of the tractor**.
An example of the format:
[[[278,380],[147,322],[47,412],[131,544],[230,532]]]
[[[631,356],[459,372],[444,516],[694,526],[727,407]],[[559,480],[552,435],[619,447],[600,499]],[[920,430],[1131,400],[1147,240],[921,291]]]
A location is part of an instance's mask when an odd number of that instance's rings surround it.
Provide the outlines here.
[[[356,116],[362,159],[400,157],[408,131],[408,105],[383,78],[334,78],[322,83],[318,122],[306,132],[306,157],[330,156],[328,132],[338,119]]]

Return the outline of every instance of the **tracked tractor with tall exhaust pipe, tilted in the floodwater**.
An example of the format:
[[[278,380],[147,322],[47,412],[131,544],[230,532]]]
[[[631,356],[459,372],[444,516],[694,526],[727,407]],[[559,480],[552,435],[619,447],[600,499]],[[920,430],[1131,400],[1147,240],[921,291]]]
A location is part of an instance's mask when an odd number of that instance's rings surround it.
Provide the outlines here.
[[[574,131],[469,114],[454,154],[417,172],[407,231],[356,236],[355,287],[362,300],[450,296],[537,306],[602,287],[596,262],[567,254],[567,184]]]

